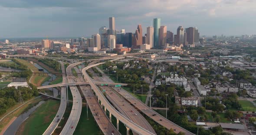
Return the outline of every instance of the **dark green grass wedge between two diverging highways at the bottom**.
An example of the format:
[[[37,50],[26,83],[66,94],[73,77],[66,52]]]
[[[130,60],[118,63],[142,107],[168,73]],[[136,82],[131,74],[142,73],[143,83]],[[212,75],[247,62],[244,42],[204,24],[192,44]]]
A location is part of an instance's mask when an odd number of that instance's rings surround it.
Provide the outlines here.
[[[88,118],[86,114],[86,105],[82,106],[82,113],[79,122],[75,128],[74,135],[98,135],[101,130],[98,128],[90,109],[88,108]]]

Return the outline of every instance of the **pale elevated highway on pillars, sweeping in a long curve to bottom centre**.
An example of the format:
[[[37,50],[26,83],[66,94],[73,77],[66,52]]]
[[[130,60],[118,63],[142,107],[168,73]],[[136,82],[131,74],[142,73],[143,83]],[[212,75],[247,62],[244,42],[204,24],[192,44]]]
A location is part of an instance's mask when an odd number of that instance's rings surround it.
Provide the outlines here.
[[[121,57],[121,58],[125,58],[125,57]],[[114,60],[111,61],[115,61],[121,58],[116,58]],[[101,90],[98,89],[98,87],[96,86],[96,84],[92,81],[92,79],[89,77],[89,75],[86,73],[86,70],[103,64],[105,62],[101,62],[101,63],[97,63],[97,64],[91,64],[85,68],[83,68],[82,73],[85,77],[85,80],[87,80],[92,89],[94,90],[94,92],[96,93],[96,95],[98,96],[99,100],[101,101],[101,103],[108,109],[109,113],[111,113],[113,116],[115,116],[119,121],[123,122],[129,129],[137,132],[140,135],[154,135],[154,133],[149,132],[148,130],[142,128],[141,126],[135,124],[134,122],[132,122],[130,119],[126,118],[125,116],[123,116],[121,113],[119,113],[109,102],[108,100],[105,98],[105,96],[102,94]]]

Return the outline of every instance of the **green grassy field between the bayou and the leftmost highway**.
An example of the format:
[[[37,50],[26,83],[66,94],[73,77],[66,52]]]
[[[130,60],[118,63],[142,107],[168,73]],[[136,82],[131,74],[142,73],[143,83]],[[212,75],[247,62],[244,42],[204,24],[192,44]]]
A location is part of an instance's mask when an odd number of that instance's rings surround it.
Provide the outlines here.
[[[59,103],[57,100],[47,100],[20,125],[16,135],[42,135],[53,121]]]

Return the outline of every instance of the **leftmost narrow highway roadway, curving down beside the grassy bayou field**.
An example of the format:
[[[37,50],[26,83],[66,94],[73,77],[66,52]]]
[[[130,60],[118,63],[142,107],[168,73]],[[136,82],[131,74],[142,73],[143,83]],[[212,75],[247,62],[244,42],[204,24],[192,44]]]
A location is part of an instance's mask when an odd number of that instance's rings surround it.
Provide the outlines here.
[[[65,72],[65,67],[64,64],[61,62],[61,70],[62,70],[62,82],[66,82],[66,72]],[[46,131],[43,133],[43,135],[51,135],[56,127],[58,126],[59,122],[61,121],[65,110],[67,106],[67,94],[66,94],[66,87],[62,86],[61,87],[61,95],[60,95],[60,105],[59,105],[59,110],[56,114],[56,116],[53,119],[53,122],[49,125],[49,127],[46,129]]]

